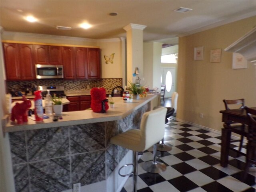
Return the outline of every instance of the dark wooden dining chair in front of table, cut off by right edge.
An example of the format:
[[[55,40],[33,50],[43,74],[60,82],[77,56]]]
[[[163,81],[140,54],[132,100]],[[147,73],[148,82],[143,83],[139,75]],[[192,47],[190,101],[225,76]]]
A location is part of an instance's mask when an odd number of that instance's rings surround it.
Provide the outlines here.
[[[256,110],[252,108],[245,107],[247,118],[248,118],[248,143],[246,150],[246,165],[244,168],[243,180],[249,171],[250,164],[256,165]]]

